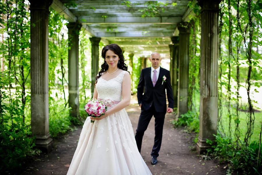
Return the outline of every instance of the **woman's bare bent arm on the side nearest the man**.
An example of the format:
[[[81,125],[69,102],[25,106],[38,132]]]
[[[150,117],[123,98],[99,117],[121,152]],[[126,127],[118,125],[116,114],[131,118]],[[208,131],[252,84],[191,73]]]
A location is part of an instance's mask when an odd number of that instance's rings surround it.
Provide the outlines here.
[[[105,115],[102,115],[100,118],[95,118],[95,120],[101,120],[102,118],[105,118],[108,115],[116,113],[117,111],[120,111],[126,106],[129,106],[130,99],[131,99],[131,79],[130,79],[130,74],[128,72],[125,72],[122,82],[122,97],[123,97],[122,101],[120,101],[118,104],[116,104],[116,106],[106,111]]]

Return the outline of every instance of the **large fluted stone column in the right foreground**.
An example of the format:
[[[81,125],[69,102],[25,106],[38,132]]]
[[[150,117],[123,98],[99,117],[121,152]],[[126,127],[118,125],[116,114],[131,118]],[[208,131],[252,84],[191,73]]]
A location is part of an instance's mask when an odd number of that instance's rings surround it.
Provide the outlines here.
[[[200,115],[197,152],[202,154],[217,134],[219,3],[199,1],[201,6]]]

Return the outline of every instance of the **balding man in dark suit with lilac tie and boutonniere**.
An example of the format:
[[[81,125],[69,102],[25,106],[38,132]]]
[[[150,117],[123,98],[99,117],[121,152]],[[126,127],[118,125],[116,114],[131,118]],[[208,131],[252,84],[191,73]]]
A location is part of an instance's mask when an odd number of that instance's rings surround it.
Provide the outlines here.
[[[155,143],[151,152],[151,164],[157,164],[158,152],[161,147],[164,119],[166,112],[173,112],[173,91],[170,81],[170,72],[160,67],[160,54],[152,53],[150,56],[152,66],[142,69],[137,86],[137,99],[141,107],[135,139],[137,148],[141,151],[142,139],[146,128],[154,115],[155,117]],[[166,102],[166,90],[168,108]],[[144,93],[144,94],[143,94]]]

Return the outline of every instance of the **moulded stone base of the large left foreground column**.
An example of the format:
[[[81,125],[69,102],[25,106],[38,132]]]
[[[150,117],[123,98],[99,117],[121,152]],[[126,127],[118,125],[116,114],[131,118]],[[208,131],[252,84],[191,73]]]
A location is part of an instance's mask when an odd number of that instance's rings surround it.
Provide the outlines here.
[[[53,139],[50,134],[45,136],[36,136],[36,147],[43,152],[50,153],[53,146]]]

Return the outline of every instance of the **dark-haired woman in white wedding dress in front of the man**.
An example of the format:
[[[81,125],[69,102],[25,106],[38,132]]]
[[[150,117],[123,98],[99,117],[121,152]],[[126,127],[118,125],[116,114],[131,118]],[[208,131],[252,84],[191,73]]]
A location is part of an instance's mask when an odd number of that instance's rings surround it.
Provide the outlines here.
[[[109,44],[102,49],[102,57],[93,99],[110,99],[114,104],[100,118],[87,117],[67,174],[151,175],[125,111],[130,104],[131,81],[122,50]]]

